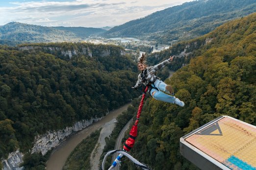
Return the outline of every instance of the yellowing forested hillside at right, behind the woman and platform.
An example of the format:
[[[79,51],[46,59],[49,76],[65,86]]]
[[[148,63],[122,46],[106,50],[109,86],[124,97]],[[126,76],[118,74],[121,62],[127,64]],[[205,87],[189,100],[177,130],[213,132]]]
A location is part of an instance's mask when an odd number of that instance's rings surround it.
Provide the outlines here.
[[[195,48],[205,39],[211,41]],[[189,47],[192,42],[194,46]],[[174,86],[185,106],[148,95],[130,151],[155,170],[195,169],[179,154],[179,138],[221,115],[256,125],[256,13],[177,46],[182,44],[187,44],[183,49],[193,48],[193,59],[166,82]],[[124,161],[122,169],[135,168]]]

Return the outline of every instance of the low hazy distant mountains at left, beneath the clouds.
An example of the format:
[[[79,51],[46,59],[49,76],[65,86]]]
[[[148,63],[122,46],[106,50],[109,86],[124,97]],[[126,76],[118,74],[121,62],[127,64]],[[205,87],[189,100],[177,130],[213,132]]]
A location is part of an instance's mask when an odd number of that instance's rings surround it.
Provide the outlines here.
[[[20,22],[0,26],[0,39],[15,42],[63,42],[81,41],[91,35],[104,32],[101,28],[47,27]]]

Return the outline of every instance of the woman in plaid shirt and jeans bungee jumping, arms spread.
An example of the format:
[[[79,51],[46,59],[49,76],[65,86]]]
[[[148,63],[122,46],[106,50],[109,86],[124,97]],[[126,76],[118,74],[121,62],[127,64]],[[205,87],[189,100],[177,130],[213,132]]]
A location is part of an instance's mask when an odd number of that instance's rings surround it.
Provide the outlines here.
[[[184,102],[180,101],[178,98],[176,98],[174,95],[174,91],[171,85],[166,85],[163,81],[161,81],[158,77],[156,77],[156,71],[160,68],[163,68],[166,64],[169,64],[173,61],[174,56],[170,57],[169,59],[163,61],[160,64],[156,64],[154,66],[149,66],[144,62],[145,55],[142,54],[142,57],[139,59],[139,62],[137,64],[138,69],[141,71],[141,73],[138,75],[138,81],[136,85],[134,85],[134,89],[137,89],[140,85],[150,85],[150,95],[156,99],[163,102],[168,102],[172,104],[179,105],[183,107],[185,104]],[[167,92],[168,94],[163,93]]]

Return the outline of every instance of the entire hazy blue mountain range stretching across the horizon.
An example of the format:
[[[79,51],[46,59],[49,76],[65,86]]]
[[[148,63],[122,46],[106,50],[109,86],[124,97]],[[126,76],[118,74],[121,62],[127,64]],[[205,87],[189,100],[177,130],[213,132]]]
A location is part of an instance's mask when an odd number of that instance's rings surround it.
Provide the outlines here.
[[[172,44],[202,36],[217,26],[256,12],[255,0],[194,0],[154,12],[144,18],[105,28],[46,27],[19,22],[0,26],[0,43],[79,42],[89,36],[139,37]],[[108,30],[107,30],[108,29]],[[8,42],[12,41],[12,42]]]

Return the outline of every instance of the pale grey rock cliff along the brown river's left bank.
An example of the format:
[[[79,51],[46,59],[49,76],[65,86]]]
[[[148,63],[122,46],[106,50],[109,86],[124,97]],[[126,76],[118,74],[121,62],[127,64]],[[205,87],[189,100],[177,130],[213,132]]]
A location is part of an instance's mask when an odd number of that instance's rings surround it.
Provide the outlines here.
[[[82,120],[73,125],[73,127],[66,127],[65,129],[58,131],[49,131],[46,134],[38,135],[35,138],[34,147],[31,153],[41,152],[45,155],[49,150],[57,147],[63,140],[69,135],[91,125],[93,122],[99,121],[101,118],[94,118],[91,120]],[[6,160],[2,161],[3,170],[23,170],[23,167],[19,165],[23,162],[24,154],[19,150],[9,154]]]

